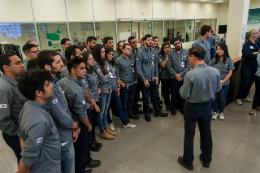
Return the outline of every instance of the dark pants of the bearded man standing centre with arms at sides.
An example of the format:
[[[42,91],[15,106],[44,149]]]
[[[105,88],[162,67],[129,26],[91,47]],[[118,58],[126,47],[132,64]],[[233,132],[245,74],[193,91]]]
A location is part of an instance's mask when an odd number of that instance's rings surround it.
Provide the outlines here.
[[[144,82],[142,82],[142,90],[143,90],[143,103],[144,103],[144,114],[150,114],[150,106],[149,106],[149,98],[150,98],[150,91],[153,94],[153,105],[155,112],[161,112],[162,108],[160,106],[160,97],[158,92],[158,85],[156,85],[156,81],[150,81],[150,86],[145,87]]]

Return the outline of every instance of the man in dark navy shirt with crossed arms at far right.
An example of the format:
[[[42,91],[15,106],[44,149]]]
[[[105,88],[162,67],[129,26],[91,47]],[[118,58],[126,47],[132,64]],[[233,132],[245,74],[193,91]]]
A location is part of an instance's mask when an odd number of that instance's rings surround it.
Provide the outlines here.
[[[252,101],[247,96],[254,82],[255,73],[258,67],[256,58],[260,44],[256,40],[259,37],[259,33],[256,29],[251,29],[248,34],[249,40],[244,43],[242,49],[242,79],[237,93],[237,104],[239,105],[242,105],[242,99],[245,101]]]

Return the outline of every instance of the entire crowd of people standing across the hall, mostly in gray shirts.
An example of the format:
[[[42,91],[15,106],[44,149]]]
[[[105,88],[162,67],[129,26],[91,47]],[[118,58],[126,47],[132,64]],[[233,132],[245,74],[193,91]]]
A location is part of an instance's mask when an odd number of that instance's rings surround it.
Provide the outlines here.
[[[255,75],[256,87],[260,85],[257,38],[258,32],[250,31],[243,47],[238,104],[247,98]],[[201,36],[189,50],[182,47],[179,36],[172,40],[173,48],[168,38],[159,47],[159,38],[150,34],[142,38],[139,48],[133,36],[119,41],[116,50],[112,37],[102,41],[103,45],[97,44],[97,38],[89,36],[86,46],[78,46],[64,38],[61,52],[40,51],[36,42],[28,41],[23,46],[27,57],[23,62],[14,54],[0,57],[0,129],[17,157],[18,173],[92,172],[91,168],[101,165],[90,154],[102,148],[96,126],[101,138],[112,140],[117,133],[111,112],[124,128],[136,128],[130,119],[139,119],[142,114],[147,122],[152,113],[167,117],[160,95],[171,115],[179,109],[184,116],[184,154],[178,162],[193,169],[198,122],[199,157],[203,166],[209,167],[211,119],[225,119],[225,99],[234,70],[227,45],[220,43],[216,30],[202,26]],[[259,93],[256,89],[250,114],[258,106]],[[141,97],[143,111],[139,109]]]

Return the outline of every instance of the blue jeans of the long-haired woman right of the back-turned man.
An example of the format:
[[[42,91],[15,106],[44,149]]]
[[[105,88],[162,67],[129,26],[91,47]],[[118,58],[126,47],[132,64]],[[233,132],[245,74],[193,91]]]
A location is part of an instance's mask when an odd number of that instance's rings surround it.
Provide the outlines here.
[[[213,101],[213,111],[223,113],[225,108],[226,96],[228,92],[229,84],[223,85],[219,92],[215,92],[215,98]]]

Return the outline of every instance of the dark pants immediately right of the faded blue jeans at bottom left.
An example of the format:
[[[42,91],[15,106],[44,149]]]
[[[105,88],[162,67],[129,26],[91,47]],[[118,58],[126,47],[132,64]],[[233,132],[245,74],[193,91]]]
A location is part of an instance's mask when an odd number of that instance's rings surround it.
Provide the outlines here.
[[[88,109],[88,117],[91,122],[91,111]],[[85,165],[92,161],[90,157],[90,140],[91,133],[88,132],[87,127],[80,123],[81,131],[78,140],[74,143],[75,149],[75,173],[85,173]]]

